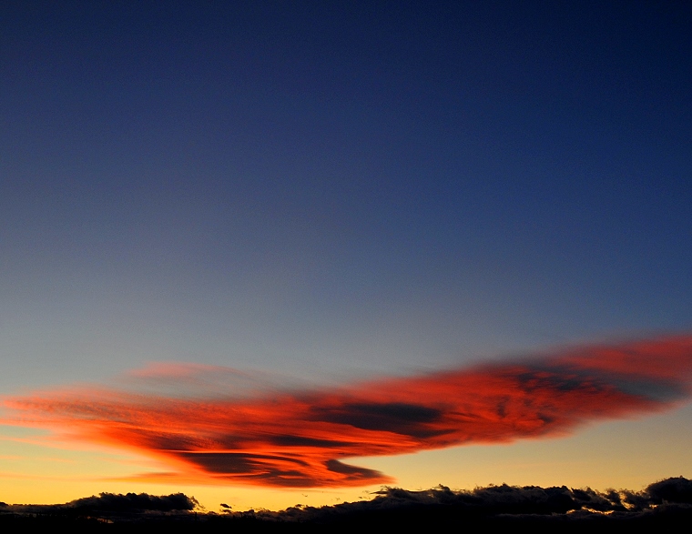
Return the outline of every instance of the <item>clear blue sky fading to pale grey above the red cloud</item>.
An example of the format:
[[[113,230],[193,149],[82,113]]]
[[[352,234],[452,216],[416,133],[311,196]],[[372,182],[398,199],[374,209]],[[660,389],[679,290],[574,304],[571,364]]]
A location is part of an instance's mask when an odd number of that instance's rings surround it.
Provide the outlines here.
[[[3,392],[692,327],[692,5],[4,2]]]

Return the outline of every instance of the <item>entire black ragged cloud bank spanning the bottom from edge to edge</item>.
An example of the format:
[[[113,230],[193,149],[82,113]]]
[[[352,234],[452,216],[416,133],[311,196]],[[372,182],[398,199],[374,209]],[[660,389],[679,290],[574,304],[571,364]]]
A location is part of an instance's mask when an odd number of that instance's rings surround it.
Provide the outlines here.
[[[667,524],[692,519],[692,480],[664,479],[643,491],[569,489],[565,486],[489,486],[454,491],[439,486],[424,491],[383,488],[367,501],[347,502],[321,508],[296,507],[281,510],[229,511],[221,515],[197,513],[198,502],[183,494],[154,497],[147,494],[114,495],[77,499],[63,505],[6,505],[0,517],[31,514],[103,517],[115,521],[175,518],[200,525],[247,527],[273,525],[351,525],[361,527],[469,526],[474,522],[515,523],[555,526],[580,524],[612,526],[623,521]],[[240,529],[242,530],[242,529]]]

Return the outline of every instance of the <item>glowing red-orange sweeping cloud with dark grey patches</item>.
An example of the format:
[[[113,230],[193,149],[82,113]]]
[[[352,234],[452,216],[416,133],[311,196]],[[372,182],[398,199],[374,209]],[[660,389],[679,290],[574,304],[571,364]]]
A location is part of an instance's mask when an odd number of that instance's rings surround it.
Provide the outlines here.
[[[160,373],[189,391],[205,369],[159,365],[139,375]],[[66,389],[7,398],[5,406],[15,410],[14,424],[133,448],[171,466],[142,476],[148,479],[338,487],[392,481],[344,458],[559,436],[587,421],[670,408],[689,397],[691,385],[692,337],[676,337],[331,390],[255,389],[238,397],[201,388],[202,396],[180,398]]]

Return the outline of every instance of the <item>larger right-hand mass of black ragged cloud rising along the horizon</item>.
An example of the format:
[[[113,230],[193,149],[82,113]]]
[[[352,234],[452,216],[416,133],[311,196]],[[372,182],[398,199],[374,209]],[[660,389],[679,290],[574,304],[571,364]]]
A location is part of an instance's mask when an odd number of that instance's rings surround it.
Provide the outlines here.
[[[321,508],[297,506],[281,511],[232,512],[229,517],[253,517],[303,523],[382,524],[389,527],[416,524],[465,525],[478,520],[512,520],[531,523],[588,522],[604,527],[619,520],[692,517],[689,490],[692,481],[679,477],[649,485],[645,490],[570,489],[565,486],[488,486],[452,490],[444,486],[422,491],[384,488],[371,500]],[[668,499],[661,497],[665,492]],[[636,501],[636,505],[633,504]],[[665,502],[665,504],[663,504]],[[601,519],[603,523],[594,523]]]

